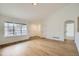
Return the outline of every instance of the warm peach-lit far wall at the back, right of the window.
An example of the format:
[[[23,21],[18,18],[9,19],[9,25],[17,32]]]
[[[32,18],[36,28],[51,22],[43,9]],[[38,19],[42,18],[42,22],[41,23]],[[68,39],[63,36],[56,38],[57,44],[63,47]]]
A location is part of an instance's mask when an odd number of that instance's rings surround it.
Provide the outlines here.
[[[42,36],[42,21],[41,20],[30,21],[28,29],[30,36]]]

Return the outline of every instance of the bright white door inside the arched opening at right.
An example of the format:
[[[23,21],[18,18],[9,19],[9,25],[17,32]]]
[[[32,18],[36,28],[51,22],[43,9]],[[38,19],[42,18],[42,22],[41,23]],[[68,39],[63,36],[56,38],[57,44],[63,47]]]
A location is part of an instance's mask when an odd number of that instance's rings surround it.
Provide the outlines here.
[[[67,22],[65,28],[65,39],[74,40],[74,22]]]

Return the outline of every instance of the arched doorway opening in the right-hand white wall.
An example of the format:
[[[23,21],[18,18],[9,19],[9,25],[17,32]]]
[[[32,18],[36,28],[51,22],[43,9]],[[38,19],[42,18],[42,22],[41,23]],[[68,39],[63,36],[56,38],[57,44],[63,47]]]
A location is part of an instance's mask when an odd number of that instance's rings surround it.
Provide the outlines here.
[[[65,39],[74,40],[75,39],[75,23],[72,20],[65,22]]]

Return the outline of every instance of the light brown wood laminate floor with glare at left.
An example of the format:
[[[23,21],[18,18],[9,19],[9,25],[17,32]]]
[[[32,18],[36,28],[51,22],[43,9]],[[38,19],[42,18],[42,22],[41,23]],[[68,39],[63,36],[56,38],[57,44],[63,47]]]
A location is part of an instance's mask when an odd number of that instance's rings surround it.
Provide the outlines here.
[[[1,48],[2,56],[76,56],[75,43],[47,39],[32,39]]]

